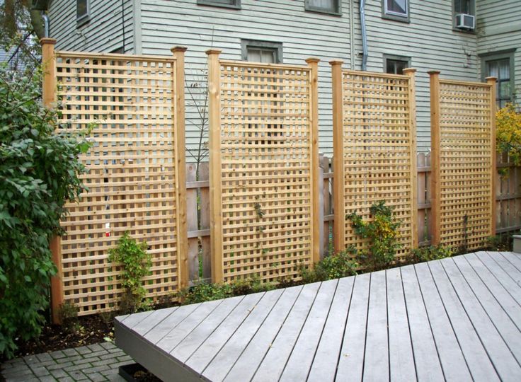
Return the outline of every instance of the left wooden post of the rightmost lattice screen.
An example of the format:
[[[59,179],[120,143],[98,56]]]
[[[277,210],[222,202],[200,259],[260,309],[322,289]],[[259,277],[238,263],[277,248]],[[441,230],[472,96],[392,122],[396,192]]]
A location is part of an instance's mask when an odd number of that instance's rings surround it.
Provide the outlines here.
[[[440,243],[440,71],[429,71],[430,76],[430,212],[433,233],[431,245]]]

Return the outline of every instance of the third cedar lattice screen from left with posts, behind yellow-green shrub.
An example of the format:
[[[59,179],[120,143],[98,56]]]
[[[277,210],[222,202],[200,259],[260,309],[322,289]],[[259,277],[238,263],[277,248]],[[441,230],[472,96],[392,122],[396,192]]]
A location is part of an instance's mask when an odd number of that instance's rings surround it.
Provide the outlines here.
[[[406,75],[333,70],[336,250],[365,248],[346,215],[369,220],[384,200],[394,208],[402,244],[416,247],[416,125],[414,69]],[[339,180],[339,181],[337,181]]]

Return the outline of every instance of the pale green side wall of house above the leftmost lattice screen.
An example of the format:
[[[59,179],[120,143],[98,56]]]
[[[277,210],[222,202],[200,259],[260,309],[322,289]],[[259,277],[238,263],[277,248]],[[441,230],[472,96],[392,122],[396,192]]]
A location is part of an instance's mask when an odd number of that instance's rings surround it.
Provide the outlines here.
[[[50,37],[57,50],[113,52],[133,50],[133,0],[90,0],[90,21],[76,25],[76,1],[53,0],[49,7]]]

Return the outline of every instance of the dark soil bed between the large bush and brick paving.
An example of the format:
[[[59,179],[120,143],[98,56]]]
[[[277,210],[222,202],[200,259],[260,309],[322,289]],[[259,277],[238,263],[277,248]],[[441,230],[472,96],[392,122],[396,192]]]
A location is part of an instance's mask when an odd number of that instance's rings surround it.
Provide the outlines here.
[[[67,329],[64,325],[45,325],[40,337],[29,341],[16,342],[16,357],[29,354],[52,352],[105,342],[114,339],[112,320],[106,316],[92,315],[78,318],[75,328]],[[0,354],[0,363],[6,361]]]

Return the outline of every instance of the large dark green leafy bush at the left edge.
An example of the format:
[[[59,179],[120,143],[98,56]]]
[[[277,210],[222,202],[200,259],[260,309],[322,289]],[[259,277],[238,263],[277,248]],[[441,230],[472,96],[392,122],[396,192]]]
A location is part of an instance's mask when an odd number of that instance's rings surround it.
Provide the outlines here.
[[[57,133],[57,112],[42,106],[42,72],[18,76],[0,65],[0,353],[40,334],[55,265],[50,238],[62,233],[66,199],[83,190],[81,136]]]

